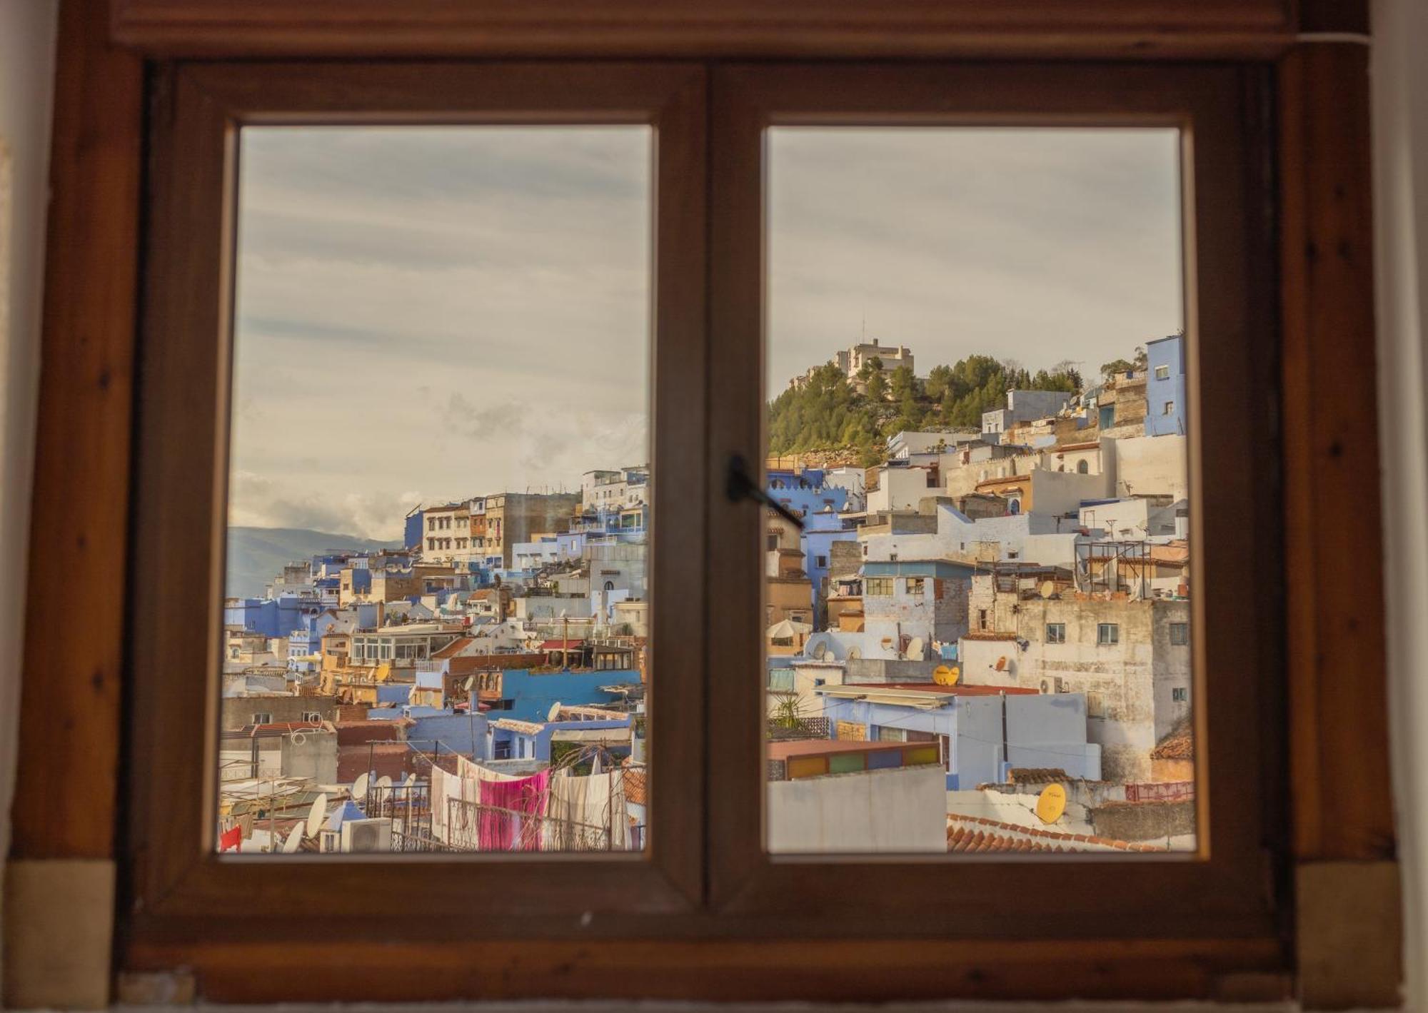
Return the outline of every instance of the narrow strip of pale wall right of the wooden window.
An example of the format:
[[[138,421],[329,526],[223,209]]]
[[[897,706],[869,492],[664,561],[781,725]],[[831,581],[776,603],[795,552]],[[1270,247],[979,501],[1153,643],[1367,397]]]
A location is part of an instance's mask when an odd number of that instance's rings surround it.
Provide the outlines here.
[[[1394,795],[1404,883],[1405,1009],[1428,1009],[1428,6],[1375,0],[1374,210],[1384,594]]]

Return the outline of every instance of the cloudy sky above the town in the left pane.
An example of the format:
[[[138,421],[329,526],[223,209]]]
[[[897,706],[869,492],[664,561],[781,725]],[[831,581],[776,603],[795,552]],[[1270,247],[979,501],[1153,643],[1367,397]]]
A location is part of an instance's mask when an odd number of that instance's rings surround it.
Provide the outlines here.
[[[247,128],[231,524],[644,464],[645,127]]]

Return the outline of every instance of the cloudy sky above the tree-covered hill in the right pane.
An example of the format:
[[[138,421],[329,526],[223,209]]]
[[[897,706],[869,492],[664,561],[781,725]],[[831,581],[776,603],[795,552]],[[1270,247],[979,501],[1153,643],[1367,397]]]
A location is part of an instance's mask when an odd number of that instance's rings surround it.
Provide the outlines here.
[[[778,127],[768,392],[867,338],[917,374],[1130,358],[1182,325],[1178,134]]]

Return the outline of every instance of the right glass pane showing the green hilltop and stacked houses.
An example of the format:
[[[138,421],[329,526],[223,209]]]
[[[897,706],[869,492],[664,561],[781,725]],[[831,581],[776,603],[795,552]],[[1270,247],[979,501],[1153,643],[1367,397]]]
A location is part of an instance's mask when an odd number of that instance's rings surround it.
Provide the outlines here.
[[[1195,847],[1180,136],[768,131],[767,847]]]

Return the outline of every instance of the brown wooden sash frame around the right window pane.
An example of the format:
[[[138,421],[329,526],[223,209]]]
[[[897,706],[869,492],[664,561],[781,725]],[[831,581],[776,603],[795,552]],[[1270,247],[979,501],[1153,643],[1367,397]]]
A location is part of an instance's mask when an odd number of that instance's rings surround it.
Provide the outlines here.
[[[1257,495],[1257,461],[1272,458],[1278,387],[1272,338],[1272,223],[1251,194],[1267,193],[1268,78],[1221,67],[878,64],[723,67],[713,81],[714,207],[711,332],[728,354],[711,364],[711,481],[731,455],[763,459],[764,131],[790,124],[1160,126],[1181,131],[1190,498],[1197,701],[1195,857],[1097,855],[1045,860],[990,855],[770,856],[747,828],[764,825],[757,686],[710,706],[711,905],[728,916],[781,920],[827,935],[1081,937],[1128,932],[1142,940],[1207,940],[1210,956],[1278,952],[1275,855],[1284,855],[1279,622],[1282,586],[1272,507]],[[1212,197],[1197,200],[1197,190]],[[1215,362],[1212,375],[1204,364]],[[1204,462],[1204,464],[1202,464]],[[1214,484],[1201,481],[1212,469]],[[711,489],[714,487],[711,485]],[[757,569],[761,511],[711,495],[710,538],[727,568],[711,568],[710,661],[763,665],[757,599],[741,599]],[[1242,579],[1244,566],[1259,575]],[[728,584],[721,584],[728,581]],[[747,595],[744,596],[747,599]],[[740,602],[744,602],[743,605]],[[1245,679],[1250,665],[1258,679]],[[740,681],[753,683],[754,681]],[[830,889],[837,885],[837,889]],[[1047,897],[1057,903],[1048,910]],[[800,923],[804,920],[804,925]]]

